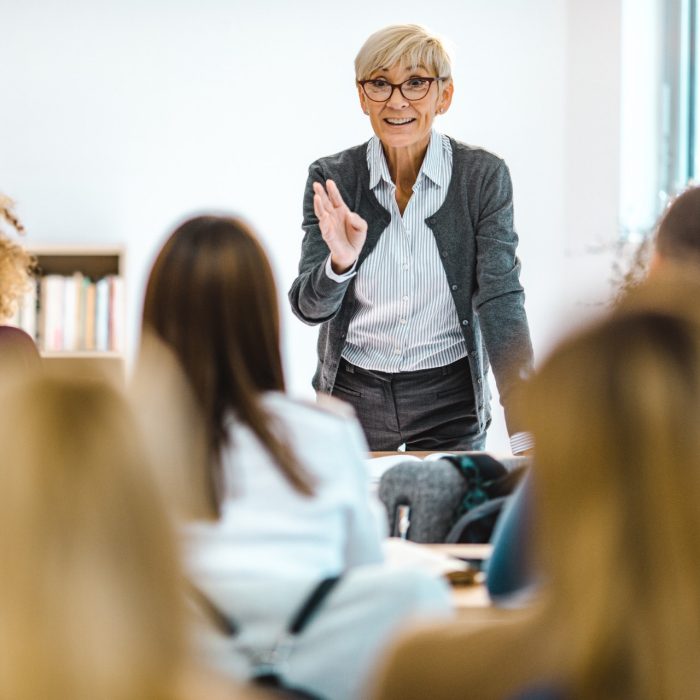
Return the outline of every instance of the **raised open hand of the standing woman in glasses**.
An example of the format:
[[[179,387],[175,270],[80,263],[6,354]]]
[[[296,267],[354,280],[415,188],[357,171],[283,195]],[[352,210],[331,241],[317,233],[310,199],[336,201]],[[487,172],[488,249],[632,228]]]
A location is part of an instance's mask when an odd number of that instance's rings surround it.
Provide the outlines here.
[[[367,222],[348,209],[333,180],[324,188],[314,182],[314,212],[326,245],[331,251],[333,271],[341,274],[357,260],[367,238]]]

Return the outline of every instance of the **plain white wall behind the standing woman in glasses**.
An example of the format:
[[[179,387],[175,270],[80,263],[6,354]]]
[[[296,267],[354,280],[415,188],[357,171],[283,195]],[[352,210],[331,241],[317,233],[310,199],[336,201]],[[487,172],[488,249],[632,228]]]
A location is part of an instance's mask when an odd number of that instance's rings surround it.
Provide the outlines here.
[[[404,21],[456,49],[438,128],[511,167],[541,355],[572,317],[566,304],[585,307],[591,278],[607,274],[607,262],[579,263],[617,228],[620,0],[0,0],[0,189],[30,242],[126,246],[132,350],[173,223],[244,215],[277,273],[291,388],[310,395],[316,330],[284,299],[306,169],[370,136],[352,61],[370,32]],[[501,449],[496,413],[489,446]]]

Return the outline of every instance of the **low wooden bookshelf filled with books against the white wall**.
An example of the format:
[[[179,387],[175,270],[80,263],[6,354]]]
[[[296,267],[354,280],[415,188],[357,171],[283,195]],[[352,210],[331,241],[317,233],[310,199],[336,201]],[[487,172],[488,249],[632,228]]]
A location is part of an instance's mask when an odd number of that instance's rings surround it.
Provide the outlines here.
[[[54,244],[27,249],[37,261],[38,284],[33,299],[27,298],[20,312],[19,325],[33,335],[46,366],[55,372],[102,375],[121,383],[126,342],[124,250]],[[47,276],[53,278],[51,289],[42,286]],[[98,286],[100,292],[95,291]],[[87,302],[90,296],[92,301]],[[33,306],[32,324],[27,317]]]

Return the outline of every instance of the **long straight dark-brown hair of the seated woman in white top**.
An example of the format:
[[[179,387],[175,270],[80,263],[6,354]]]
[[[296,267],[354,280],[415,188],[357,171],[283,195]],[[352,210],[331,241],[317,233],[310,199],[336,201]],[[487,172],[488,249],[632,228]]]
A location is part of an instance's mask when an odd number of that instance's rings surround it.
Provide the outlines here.
[[[284,391],[277,291],[255,234],[227,216],[198,216],[170,236],[151,270],[143,329],[177,355],[205,422],[208,488],[214,512],[223,499],[221,450],[233,412],[266,447],[294,489],[312,479],[260,401]]]

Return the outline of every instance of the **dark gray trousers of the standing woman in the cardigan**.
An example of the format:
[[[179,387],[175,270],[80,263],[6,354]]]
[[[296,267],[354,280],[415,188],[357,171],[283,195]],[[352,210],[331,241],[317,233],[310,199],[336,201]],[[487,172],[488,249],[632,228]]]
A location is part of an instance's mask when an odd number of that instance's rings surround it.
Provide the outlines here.
[[[332,394],[354,407],[372,451],[484,449],[466,358],[394,374],[341,360]]]

